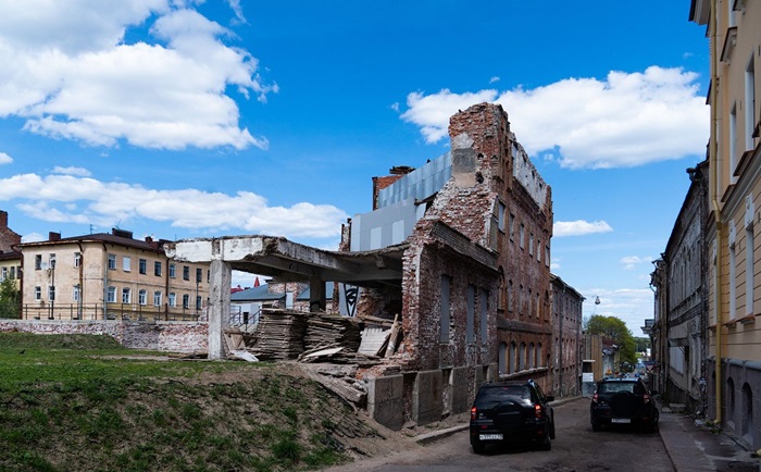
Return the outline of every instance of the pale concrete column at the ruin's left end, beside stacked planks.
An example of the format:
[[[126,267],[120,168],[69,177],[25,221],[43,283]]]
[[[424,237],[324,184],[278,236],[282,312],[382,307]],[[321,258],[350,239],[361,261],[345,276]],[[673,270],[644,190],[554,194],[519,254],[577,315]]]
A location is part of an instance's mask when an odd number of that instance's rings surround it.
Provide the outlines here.
[[[223,330],[229,326],[229,289],[233,269],[229,263],[211,261],[209,286],[209,359],[220,360],[227,355]]]

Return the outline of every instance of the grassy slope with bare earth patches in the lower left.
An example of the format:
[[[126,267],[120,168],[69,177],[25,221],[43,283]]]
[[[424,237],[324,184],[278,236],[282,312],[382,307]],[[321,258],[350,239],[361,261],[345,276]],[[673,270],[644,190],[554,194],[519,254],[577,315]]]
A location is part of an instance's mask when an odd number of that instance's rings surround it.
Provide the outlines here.
[[[348,460],[341,438],[377,435],[282,367],[150,355],[0,333],[0,471],[309,470]]]

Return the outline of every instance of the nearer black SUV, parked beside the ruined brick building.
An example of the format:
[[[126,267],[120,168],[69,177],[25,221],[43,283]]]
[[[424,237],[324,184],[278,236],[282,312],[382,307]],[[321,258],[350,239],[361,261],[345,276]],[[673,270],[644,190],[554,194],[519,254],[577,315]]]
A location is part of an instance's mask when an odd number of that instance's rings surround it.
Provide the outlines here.
[[[471,446],[483,454],[486,445],[502,442],[533,442],[542,449],[554,439],[554,412],[534,382],[498,382],[478,388],[471,408]]]

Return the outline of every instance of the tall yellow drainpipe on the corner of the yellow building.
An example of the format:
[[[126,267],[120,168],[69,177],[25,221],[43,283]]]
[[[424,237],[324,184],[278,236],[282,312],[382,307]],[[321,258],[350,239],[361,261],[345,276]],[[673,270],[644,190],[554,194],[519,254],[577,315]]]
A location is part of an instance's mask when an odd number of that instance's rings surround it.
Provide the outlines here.
[[[710,27],[711,27],[711,140],[709,142],[710,149],[710,163],[711,169],[711,181],[713,185],[711,186],[711,206],[713,207],[713,218],[716,225],[716,364],[715,364],[715,409],[716,409],[716,423],[722,421],[722,214],[721,207],[719,204],[719,188],[720,182],[719,177],[719,144],[716,124],[719,122],[719,111],[716,110],[718,102],[716,98],[719,96],[719,65],[716,64],[719,57],[719,49],[716,44],[716,0],[711,2],[711,13],[710,13]],[[729,281],[732,282],[732,281]]]

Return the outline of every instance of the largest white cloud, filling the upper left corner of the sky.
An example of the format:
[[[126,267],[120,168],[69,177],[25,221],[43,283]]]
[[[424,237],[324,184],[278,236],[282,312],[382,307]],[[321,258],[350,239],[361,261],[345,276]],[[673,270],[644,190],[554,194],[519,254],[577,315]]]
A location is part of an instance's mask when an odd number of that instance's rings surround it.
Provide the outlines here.
[[[126,44],[135,26],[149,35]],[[248,51],[222,42],[232,36],[169,0],[2,2],[0,61],[14,67],[0,70],[0,117],[95,146],[264,149],[225,91],[265,101],[277,86],[262,83]]]

